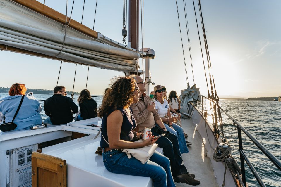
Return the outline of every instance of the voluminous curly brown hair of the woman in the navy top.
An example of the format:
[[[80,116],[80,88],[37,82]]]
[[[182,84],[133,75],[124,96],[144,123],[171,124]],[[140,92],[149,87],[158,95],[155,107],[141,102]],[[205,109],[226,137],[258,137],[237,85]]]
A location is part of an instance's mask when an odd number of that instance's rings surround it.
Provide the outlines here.
[[[113,107],[127,108],[133,103],[135,80],[129,77],[119,76],[114,78],[115,82],[110,86],[110,90],[104,95],[102,105],[99,107],[99,116],[107,115]]]

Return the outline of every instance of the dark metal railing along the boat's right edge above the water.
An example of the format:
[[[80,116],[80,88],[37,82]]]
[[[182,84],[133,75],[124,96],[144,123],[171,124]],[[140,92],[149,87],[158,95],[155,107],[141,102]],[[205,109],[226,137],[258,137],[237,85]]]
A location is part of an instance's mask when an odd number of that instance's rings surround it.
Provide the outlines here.
[[[199,109],[199,105],[202,105],[202,116],[204,117],[204,102],[203,102],[203,98],[209,100],[210,102],[212,102],[214,105],[216,105],[217,107],[220,108],[221,111],[223,111],[225,113],[225,115],[227,115],[229,117],[230,120],[232,120],[232,122],[234,124],[237,125],[237,132],[238,132],[238,141],[239,141],[239,153],[240,153],[240,162],[241,162],[241,173],[242,173],[242,181],[244,186],[246,186],[246,175],[245,175],[245,165],[244,165],[244,161],[247,163],[249,169],[251,169],[251,172],[253,173],[253,175],[255,176],[257,182],[259,183],[260,186],[265,186],[263,180],[261,179],[261,177],[259,176],[258,172],[256,171],[256,169],[253,167],[252,163],[250,162],[250,160],[248,159],[248,157],[246,156],[244,150],[243,150],[243,142],[242,142],[242,136],[241,136],[241,131],[244,132],[244,134],[246,134],[246,136],[248,136],[248,138],[263,152],[263,154],[265,156],[268,157],[268,159],[281,171],[281,162],[273,155],[271,154],[255,137],[253,137],[236,119],[234,119],[231,115],[229,115],[222,107],[220,107],[220,105],[218,105],[214,100],[211,100],[203,95],[199,95],[198,98],[202,96],[202,103],[199,101],[196,101],[196,103],[198,104],[198,109]],[[194,104],[193,102],[189,102],[193,107],[196,106],[196,103]],[[201,110],[201,109],[199,109]]]

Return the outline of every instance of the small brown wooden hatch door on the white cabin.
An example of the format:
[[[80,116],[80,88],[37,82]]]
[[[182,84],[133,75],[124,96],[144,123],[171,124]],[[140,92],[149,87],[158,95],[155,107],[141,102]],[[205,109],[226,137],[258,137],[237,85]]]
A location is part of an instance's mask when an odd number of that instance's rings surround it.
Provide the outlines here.
[[[33,152],[32,187],[66,187],[66,160]]]

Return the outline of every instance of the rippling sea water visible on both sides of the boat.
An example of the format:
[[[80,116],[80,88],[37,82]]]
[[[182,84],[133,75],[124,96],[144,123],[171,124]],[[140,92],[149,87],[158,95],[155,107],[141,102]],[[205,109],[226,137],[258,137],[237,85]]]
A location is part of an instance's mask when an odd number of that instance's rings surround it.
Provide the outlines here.
[[[0,93],[0,98],[8,96],[8,94]],[[34,94],[37,100],[45,100],[52,95]],[[78,96],[74,96],[78,97]],[[102,102],[102,97],[93,97],[98,103]],[[77,99],[74,103],[78,105]],[[204,103],[206,103],[204,101]],[[42,119],[46,119],[44,113],[43,102],[40,102],[43,110],[41,112]],[[281,160],[281,102],[277,101],[248,101],[248,100],[227,100],[221,99],[220,106],[226,110],[234,119],[243,125],[260,143],[262,143],[277,159]],[[78,105],[79,107],[79,105]],[[208,120],[212,120],[208,105],[204,110],[208,111]],[[225,136],[228,140],[231,137],[232,121],[224,115],[223,123]],[[266,156],[242,133],[243,149],[257,172],[268,187],[281,186],[281,172],[267,159]],[[236,161],[240,164],[238,151],[237,128],[232,133],[232,154]],[[251,175],[246,163],[246,180],[249,186],[259,186],[256,179]]]

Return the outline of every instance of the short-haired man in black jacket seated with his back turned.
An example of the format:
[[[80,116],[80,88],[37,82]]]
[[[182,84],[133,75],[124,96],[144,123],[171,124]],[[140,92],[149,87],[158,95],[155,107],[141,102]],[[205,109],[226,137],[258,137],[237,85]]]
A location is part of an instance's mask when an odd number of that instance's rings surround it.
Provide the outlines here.
[[[44,101],[45,114],[49,117],[43,123],[60,125],[73,121],[73,114],[78,112],[78,106],[66,95],[64,86],[54,88],[54,95]]]

